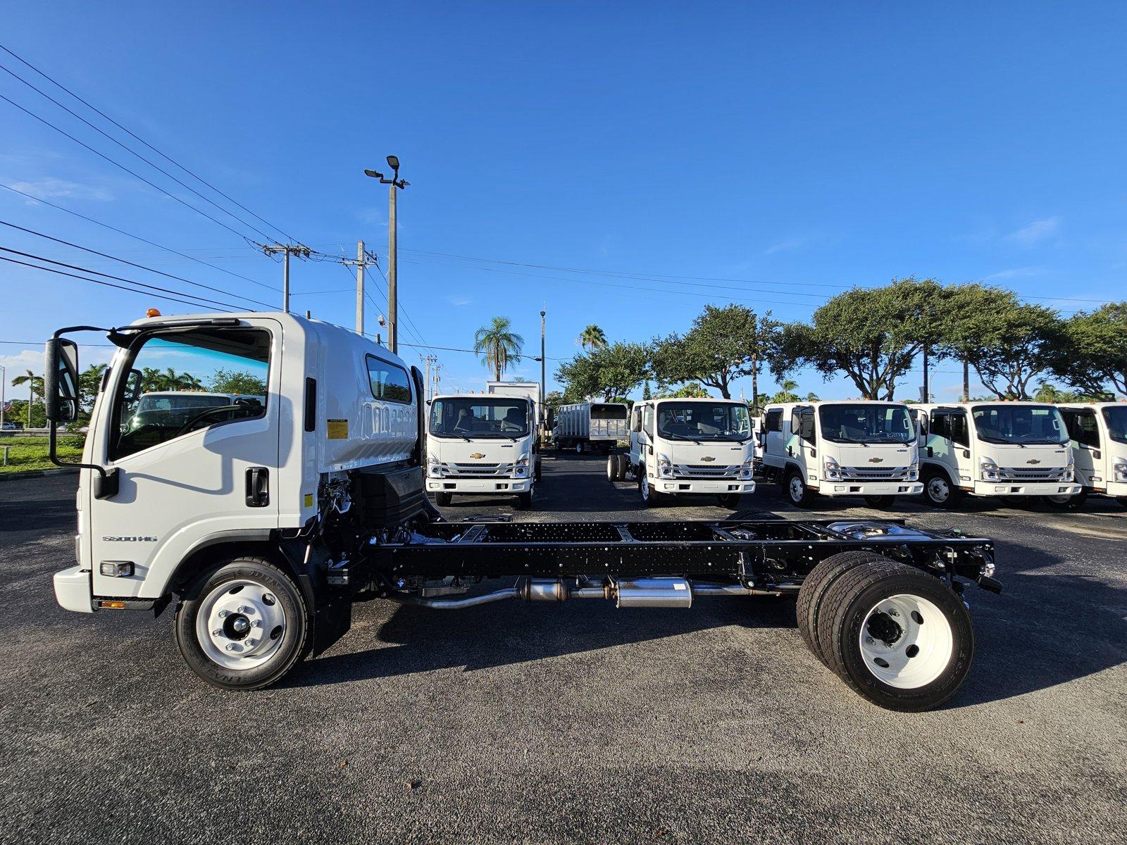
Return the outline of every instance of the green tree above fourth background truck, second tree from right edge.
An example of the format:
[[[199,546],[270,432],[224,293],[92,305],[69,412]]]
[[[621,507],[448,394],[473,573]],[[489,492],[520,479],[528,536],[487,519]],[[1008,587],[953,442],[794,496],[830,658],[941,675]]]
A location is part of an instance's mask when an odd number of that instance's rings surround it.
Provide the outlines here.
[[[943,354],[968,362],[999,399],[1029,399],[1029,384],[1049,368],[1062,332],[1056,312],[979,284],[951,288],[949,301]]]

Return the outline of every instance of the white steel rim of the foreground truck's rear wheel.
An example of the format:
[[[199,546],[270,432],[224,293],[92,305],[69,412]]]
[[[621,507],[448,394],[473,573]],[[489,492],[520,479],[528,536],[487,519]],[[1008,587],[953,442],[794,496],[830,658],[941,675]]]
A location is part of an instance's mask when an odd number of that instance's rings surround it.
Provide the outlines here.
[[[861,655],[878,681],[917,690],[951,662],[955,635],[947,615],[923,596],[907,593],[878,602],[861,623]]]

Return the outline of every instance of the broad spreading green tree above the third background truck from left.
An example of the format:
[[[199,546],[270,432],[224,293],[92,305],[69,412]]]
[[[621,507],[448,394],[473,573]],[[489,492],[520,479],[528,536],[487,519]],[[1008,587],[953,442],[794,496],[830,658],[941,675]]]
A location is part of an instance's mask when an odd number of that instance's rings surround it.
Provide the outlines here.
[[[815,311],[810,324],[786,327],[773,372],[810,364],[826,379],[845,373],[866,399],[891,400],[924,346],[939,352],[952,318],[949,299],[934,279],[914,276],[854,287]]]

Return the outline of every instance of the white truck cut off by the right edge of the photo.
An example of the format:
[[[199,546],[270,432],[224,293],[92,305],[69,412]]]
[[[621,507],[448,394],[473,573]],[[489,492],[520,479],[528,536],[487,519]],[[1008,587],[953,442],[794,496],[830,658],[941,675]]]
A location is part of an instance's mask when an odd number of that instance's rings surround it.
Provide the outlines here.
[[[1068,432],[1080,492],[1049,495],[1061,508],[1076,508],[1089,496],[1111,496],[1127,507],[1127,403],[1058,404]]]

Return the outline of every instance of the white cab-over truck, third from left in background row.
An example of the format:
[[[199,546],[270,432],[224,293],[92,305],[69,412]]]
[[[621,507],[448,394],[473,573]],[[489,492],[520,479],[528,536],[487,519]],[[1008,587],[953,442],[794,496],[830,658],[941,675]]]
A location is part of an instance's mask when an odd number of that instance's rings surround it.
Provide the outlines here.
[[[887,507],[923,489],[915,426],[900,402],[769,404],[762,436],[763,475],[796,507],[813,493],[861,496]]]

